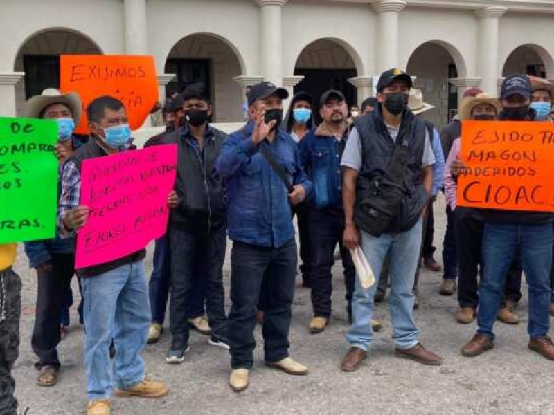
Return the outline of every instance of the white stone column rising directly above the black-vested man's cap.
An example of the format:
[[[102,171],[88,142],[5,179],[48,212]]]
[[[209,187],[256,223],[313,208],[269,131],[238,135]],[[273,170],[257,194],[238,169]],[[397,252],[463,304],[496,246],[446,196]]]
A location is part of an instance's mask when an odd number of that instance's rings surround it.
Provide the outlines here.
[[[398,14],[406,7],[406,0],[381,0],[373,3],[377,12],[377,53],[375,68],[382,73],[399,64]]]

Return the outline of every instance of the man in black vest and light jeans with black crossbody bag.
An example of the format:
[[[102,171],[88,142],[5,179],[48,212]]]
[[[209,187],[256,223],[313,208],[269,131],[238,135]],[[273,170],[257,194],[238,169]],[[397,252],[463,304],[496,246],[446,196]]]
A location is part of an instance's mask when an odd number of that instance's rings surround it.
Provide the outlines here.
[[[440,365],[440,356],[420,344],[413,321],[412,288],[435,158],[425,122],[408,109],[411,86],[411,77],[400,69],[382,73],[377,84],[379,104],[373,113],[359,118],[350,133],[341,161],[343,239],[347,248],[361,245],[377,279],[390,251],[395,353],[425,365]],[[379,205],[385,208],[379,211]],[[376,288],[377,282],[365,290],[356,281],[353,323],[346,334],[350,350],[341,364],[344,371],[357,370],[373,342],[370,321]]]

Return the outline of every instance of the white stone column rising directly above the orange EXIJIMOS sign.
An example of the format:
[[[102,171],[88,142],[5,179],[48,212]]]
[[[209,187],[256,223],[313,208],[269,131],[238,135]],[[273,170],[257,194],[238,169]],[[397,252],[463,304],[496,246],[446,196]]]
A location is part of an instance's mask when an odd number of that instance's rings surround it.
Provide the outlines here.
[[[148,55],[146,0],[123,0],[125,17],[125,52],[127,55]]]

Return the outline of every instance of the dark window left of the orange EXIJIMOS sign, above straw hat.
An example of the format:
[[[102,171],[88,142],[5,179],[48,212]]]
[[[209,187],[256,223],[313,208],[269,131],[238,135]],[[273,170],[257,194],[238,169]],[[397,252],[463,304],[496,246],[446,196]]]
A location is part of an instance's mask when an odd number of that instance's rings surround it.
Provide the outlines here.
[[[40,95],[46,88],[60,87],[60,57],[23,55],[25,98]]]

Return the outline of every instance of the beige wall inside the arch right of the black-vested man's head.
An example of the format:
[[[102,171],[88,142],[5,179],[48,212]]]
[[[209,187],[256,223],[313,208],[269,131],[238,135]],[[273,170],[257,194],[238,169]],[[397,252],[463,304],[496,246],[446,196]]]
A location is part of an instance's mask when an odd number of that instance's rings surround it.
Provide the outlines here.
[[[411,55],[406,71],[415,76],[414,86],[421,89],[423,100],[434,105],[422,118],[442,127],[448,120],[448,66],[454,59],[443,46],[423,44]]]

